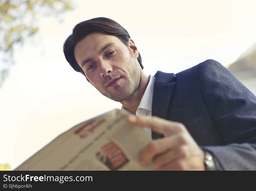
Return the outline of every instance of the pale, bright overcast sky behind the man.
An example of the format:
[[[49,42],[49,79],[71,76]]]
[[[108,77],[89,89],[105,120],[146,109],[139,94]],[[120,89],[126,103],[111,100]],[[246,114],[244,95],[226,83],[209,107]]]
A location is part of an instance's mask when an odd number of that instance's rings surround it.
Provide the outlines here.
[[[121,24],[147,76],[207,59],[227,67],[256,42],[253,0],[72,2],[74,10],[41,18],[38,34],[15,48],[16,64],[0,89],[0,163],[12,169],[72,126],[121,108],[65,60],[63,43],[79,22],[108,17]]]

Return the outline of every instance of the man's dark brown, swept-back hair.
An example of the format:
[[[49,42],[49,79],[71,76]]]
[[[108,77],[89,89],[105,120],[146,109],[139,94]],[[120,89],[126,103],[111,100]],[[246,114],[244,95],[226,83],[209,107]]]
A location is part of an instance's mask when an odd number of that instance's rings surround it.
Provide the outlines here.
[[[126,46],[128,46],[130,35],[129,33],[123,28],[120,24],[113,21],[112,19],[108,19],[105,17],[98,17],[93,18],[90,20],[83,21],[77,24],[72,34],[67,38],[63,45],[63,52],[67,62],[72,66],[72,68],[77,71],[81,72],[84,76],[84,72],[81,67],[78,65],[75,57],[74,57],[74,48],[78,42],[83,40],[87,35],[100,32],[107,35],[113,35],[118,37]],[[138,62],[142,65],[141,54],[139,53]]]

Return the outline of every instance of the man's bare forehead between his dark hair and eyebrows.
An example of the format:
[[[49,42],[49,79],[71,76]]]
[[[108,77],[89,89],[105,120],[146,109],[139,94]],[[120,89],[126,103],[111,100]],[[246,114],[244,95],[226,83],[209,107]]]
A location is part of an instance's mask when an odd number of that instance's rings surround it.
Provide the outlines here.
[[[113,35],[106,35],[102,33],[92,33],[80,42],[74,48],[74,56],[77,57],[82,54],[93,54],[98,52],[107,43],[113,42],[120,44],[122,41]]]

